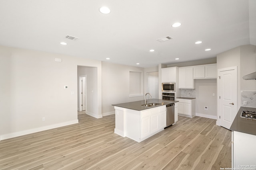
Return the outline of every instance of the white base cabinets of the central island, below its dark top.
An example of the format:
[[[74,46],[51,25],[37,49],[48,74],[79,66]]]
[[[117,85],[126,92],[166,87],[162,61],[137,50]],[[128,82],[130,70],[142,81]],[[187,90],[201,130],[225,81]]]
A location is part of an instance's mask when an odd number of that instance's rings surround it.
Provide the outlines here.
[[[142,111],[116,107],[115,133],[141,142],[164,130],[166,127],[166,106]]]

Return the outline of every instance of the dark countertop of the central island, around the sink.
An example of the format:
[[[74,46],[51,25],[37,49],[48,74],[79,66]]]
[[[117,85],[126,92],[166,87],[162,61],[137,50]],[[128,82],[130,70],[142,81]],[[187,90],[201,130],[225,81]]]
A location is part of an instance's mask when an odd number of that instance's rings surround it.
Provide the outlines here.
[[[140,100],[140,101],[136,101],[136,102],[112,104],[112,106],[118,106],[118,107],[123,107],[123,108],[126,108],[126,109],[142,111],[142,110],[151,109],[151,108],[154,108],[154,107],[159,107],[159,106],[163,106],[163,105],[167,105],[167,104],[172,104],[172,103],[175,103],[175,102],[178,102],[178,101],[161,100],[161,99],[147,99],[147,104],[158,103],[160,105],[157,105],[157,106],[142,106],[143,104],[145,104],[145,100]]]

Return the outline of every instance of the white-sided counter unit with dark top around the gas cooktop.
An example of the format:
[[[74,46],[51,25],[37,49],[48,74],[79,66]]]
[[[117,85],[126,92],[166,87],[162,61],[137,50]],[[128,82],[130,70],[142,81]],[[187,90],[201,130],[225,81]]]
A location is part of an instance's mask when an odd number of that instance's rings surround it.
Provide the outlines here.
[[[256,119],[241,117],[242,111],[256,112],[254,107],[240,107],[231,127],[232,168],[256,169]]]

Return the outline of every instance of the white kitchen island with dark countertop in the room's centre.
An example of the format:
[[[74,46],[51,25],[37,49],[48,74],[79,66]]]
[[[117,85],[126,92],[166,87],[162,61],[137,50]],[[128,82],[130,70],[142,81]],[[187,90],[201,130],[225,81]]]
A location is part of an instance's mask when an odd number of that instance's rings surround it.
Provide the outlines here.
[[[144,106],[145,100],[113,104],[115,108],[114,133],[141,142],[148,137],[164,130],[166,127],[166,105],[178,101],[148,99],[147,104],[156,106]]]

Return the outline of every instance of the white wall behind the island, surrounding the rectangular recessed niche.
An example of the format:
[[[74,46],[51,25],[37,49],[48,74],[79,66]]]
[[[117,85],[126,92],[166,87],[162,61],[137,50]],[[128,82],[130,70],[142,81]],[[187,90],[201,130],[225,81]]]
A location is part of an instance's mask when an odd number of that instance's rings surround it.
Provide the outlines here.
[[[144,68],[102,62],[102,114],[114,113],[112,104],[144,100],[144,96],[129,97],[130,71],[144,72]]]

